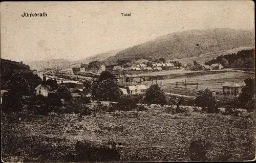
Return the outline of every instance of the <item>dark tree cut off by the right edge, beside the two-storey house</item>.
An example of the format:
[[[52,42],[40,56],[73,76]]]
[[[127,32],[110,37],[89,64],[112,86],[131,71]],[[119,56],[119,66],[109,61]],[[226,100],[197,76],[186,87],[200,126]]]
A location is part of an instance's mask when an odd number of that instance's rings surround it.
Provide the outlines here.
[[[240,107],[248,112],[255,110],[255,77],[246,78],[245,86],[242,86],[241,94],[238,97]]]

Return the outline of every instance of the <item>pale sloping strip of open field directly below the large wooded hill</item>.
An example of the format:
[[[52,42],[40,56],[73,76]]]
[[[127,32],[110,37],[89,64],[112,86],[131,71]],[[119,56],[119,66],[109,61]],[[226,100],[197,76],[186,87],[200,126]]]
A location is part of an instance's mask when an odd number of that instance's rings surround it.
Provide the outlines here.
[[[217,51],[217,52],[206,53],[206,54],[202,54],[198,57],[174,59],[172,61],[179,61],[182,64],[187,64],[187,63],[193,64],[193,61],[196,60],[198,63],[204,64],[206,61],[210,61],[211,59],[216,59],[216,57],[221,56],[221,55],[237,53],[238,51],[241,51],[241,50],[248,50],[248,49],[253,49],[253,48],[255,48],[255,46],[244,46],[241,48],[231,49],[231,50],[227,50],[227,51]]]

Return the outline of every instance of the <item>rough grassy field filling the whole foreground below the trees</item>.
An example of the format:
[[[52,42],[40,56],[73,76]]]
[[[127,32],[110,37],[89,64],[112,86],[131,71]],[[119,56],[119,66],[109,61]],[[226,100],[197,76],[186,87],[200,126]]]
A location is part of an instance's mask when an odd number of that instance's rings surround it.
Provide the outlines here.
[[[8,116],[2,113],[4,161],[72,161],[70,152],[84,140],[99,145],[112,142],[118,161],[189,161],[190,142],[197,138],[209,141],[208,161],[255,157],[253,113],[231,117],[189,110],[173,115],[165,107],[151,106],[145,111],[90,116],[49,113],[25,120]]]

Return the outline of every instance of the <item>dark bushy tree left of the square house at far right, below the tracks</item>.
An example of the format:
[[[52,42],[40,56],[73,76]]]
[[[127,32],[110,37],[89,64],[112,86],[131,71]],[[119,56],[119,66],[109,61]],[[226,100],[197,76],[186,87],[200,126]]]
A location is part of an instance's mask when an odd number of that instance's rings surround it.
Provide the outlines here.
[[[202,111],[207,112],[218,112],[218,107],[216,106],[216,99],[212,95],[210,89],[199,90],[197,93],[197,98],[195,100],[197,106],[202,107]]]

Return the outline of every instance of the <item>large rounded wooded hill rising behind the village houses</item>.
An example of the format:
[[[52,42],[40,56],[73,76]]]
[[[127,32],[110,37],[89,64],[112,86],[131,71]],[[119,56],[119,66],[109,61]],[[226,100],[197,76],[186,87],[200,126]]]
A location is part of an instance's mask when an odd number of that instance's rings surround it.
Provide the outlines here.
[[[246,45],[255,45],[253,30],[208,29],[175,32],[157,37],[155,40],[127,48],[106,59],[106,64],[118,60],[139,59],[166,60],[199,56],[203,53],[229,50]]]

